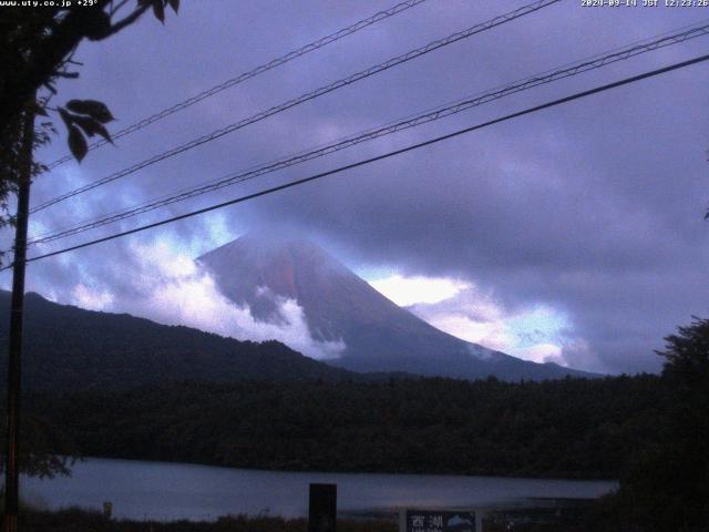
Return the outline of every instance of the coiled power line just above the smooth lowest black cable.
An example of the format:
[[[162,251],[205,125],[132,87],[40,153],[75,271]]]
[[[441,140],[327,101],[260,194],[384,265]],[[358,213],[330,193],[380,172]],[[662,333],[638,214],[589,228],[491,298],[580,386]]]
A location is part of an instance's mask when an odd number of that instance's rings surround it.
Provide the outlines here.
[[[552,83],[554,81],[558,81],[561,79],[588,72],[590,70],[600,69],[605,65],[608,65],[621,60],[627,60],[643,53],[655,51],[671,44],[685,42],[687,40],[695,39],[697,37],[707,35],[707,34],[709,34],[709,23],[702,27],[691,28],[689,30],[681,31],[678,33],[674,33],[669,35],[665,34],[665,37],[660,39],[656,39],[650,42],[647,42],[646,40],[644,44],[630,45],[625,49],[616,49],[617,51],[614,51],[613,53],[609,53],[606,55],[600,55],[600,54],[595,55],[594,58],[587,61],[572,63],[571,66],[562,68],[559,70],[552,70],[552,71],[547,71],[544,74],[536,74],[530,78],[525,78],[521,81],[516,81],[507,85],[503,85],[501,89],[487,91],[467,100],[459,100],[456,102],[453,102],[452,104],[440,106],[432,111],[429,111],[419,115],[413,115],[409,119],[404,119],[399,122],[392,122],[379,129],[369,130],[367,132],[359,133],[354,136],[341,139],[330,144],[323,144],[321,146],[318,146],[317,149],[301,152],[296,155],[281,158],[276,162],[267,163],[261,166],[255,166],[251,170],[243,171],[237,174],[230,174],[219,180],[208,182],[206,184],[185,188],[176,193],[173,193],[171,195],[164,195],[158,198],[154,198],[148,202],[144,202],[140,205],[130,207],[127,209],[117,211],[115,213],[111,213],[103,217],[93,218],[91,221],[83,222],[79,225],[74,225],[65,229],[45,233],[44,235],[39,235],[34,237],[32,241],[30,241],[29,244],[45,244],[45,243],[50,243],[68,236],[73,236],[73,235],[83,233],[85,231],[102,227],[104,225],[109,225],[122,219],[137,216],[140,214],[144,214],[144,213],[154,211],[156,208],[171,205],[173,203],[201,196],[203,194],[214,192],[219,188],[234,185],[236,183],[243,183],[245,181],[253,180],[264,174],[276,172],[285,167],[304,163],[306,161],[311,161],[314,158],[318,158],[318,157],[335,153],[337,151],[353,146],[362,142],[371,141],[373,139],[389,135],[405,129],[414,127],[428,122],[433,122],[435,120],[440,120],[442,117],[466,111],[471,108],[482,105],[493,100],[502,99],[510,94],[522,92],[542,84]]]

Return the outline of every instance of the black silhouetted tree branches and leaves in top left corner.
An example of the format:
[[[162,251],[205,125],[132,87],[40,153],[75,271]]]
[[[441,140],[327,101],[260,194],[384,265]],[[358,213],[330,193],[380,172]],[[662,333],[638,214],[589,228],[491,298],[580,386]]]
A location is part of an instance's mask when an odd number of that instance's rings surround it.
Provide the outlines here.
[[[113,116],[102,102],[74,100],[50,105],[59,79],[79,78],[79,72],[72,70],[81,64],[73,60],[79,44],[84,40],[104,41],[151,9],[164,21],[166,7],[175,12],[179,7],[179,0],[136,0],[132,8],[129,0],[94,0],[89,6],[74,1],[66,7],[55,3],[6,6],[0,10],[0,228],[13,222],[8,198],[17,192],[21,124],[27,111],[48,119],[38,133],[41,143],[49,142],[55,132],[49,113],[58,114],[78,160],[86,154],[86,136],[110,139],[104,124]],[[43,167],[38,165],[34,170],[37,175]]]

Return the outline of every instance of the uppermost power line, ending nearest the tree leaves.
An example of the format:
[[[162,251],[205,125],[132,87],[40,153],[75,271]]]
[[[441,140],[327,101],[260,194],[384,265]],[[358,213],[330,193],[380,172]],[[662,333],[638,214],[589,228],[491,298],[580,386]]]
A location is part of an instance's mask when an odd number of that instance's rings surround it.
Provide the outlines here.
[[[402,11],[405,11],[427,0],[407,0],[405,2],[398,3],[384,11],[379,11],[372,14],[371,17],[362,19],[347,28],[336,31],[335,33],[330,33],[329,35],[318,39],[317,41],[306,44],[305,47],[301,47],[297,50],[288,52],[287,54],[281,55],[280,58],[277,58],[267,63],[260,64],[255,69],[249,70],[248,72],[244,72],[235,78],[232,78],[229,80],[226,80],[219,83],[218,85],[214,85],[213,88],[207,89],[206,91],[203,91],[199,94],[196,94],[192,98],[188,98],[187,100],[183,100],[182,102],[171,105],[169,108],[163,109],[162,111],[151,116],[147,116],[146,119],[140,120],[138,122],[135,122],[134,124],[131,124],[117,131],[116,133],[113,133],[112,139],[115,141],[116,139],[121,139],[122,136],[125,136],[135,131],[142,130],[143,127],[146,127],[160,120],[163,120],[164,117],[169,116],[171,114],[183,111],[194,105],[195,103],[198,103],[202,100],[213,96],[226,89],[230,89],[232,86],[238,85],[239,83],[250,80],[251,78],[256,78],[257,75],[263,74],[264,72],[281,66],[282,64],[286,64],[287,62],[292,61],[294,59],[297,59],[301,55],[310,53],[315,50],[319,50],[320,48],[323,48],[332,42],[339,41],[340,39],[351,35],[352,33],[356,33],[359,30],[362,30],[369,25],[372,25],[381,20],[393,17],[394,14],[399,14]],[[100,139],[89,144],[89,150],[101,147],[107,143],[109,141],[104,139]],[[53,161],[47,167],[49,170],[55,168],[56,166],[64,164],[65,162],[71,161],[72,158],[73,158],[73,155],[66,154],[63,157],[58,158],[56,161]]]

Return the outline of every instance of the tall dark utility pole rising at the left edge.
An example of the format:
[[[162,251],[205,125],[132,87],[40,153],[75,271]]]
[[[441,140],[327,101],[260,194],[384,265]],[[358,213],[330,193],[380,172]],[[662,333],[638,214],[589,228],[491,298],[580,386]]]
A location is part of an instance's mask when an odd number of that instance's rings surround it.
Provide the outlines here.
[[[32,104],[34,100],[32,99]],[[22,310],[24,308],[24,260],[27,226],[32,181],[34,109],[28,105],[22,121],[22,145],[18,157],[18,213],[12,263],[12,303],[10,307],[10,346],[8,350],[8,448],[4,469],[4,530],[17,532],[19,510],[20,391],[22,378]]]

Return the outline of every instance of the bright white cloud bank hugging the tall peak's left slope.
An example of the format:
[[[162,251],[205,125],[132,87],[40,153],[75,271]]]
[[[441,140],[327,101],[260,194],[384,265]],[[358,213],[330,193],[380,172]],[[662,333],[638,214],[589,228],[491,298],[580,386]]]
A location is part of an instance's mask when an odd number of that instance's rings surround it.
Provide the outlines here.
[[[165,325],[185,325],[240,340],[276,339],[312,358],[338,357],[345,344],[312,338],[302,308],[294,299],[279,298],[281,324],[254,319],[247,306],[237,306],[217,289],[212,276],[196,263],[165,244],[134,245],[137,270],[131,272],[133,294],[112,293],[92,283],[76,285],[72,304],[113,313],[131,313]]]

